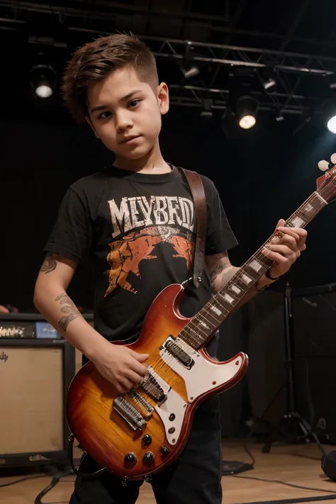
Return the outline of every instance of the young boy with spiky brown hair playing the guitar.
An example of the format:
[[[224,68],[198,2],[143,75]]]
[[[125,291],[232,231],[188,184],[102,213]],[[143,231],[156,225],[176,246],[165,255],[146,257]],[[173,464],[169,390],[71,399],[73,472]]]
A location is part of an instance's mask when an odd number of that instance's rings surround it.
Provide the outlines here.
[[[206,192],[206,258],[201,283],[191,276],[195,245],[194,204],[184,174],[159,149],[162,116],[169,110],[167,85],[159,84],[155,58],[137,38],[99,38],[74,53],[65,72],[65,103],[79,122],[113,151],[116,161],[69,187],[60,206],[47,256],[36,281],[34,303],[62,335],[90,359],[120,393],[146,375],[146,354],[113,341],[136,340],[155,296],[186,281],[185,316],[194,315],[238,268],[227,251],[236,245],[218,192],[201,176]],[[306,231],[286,229],[264,253],[274,261],[258,291],[288,271],[306,248]],[[77,264],[91,257],[96,272],[95,328],[67,296]],[[247,293],[245,301],[256,290]],[[112,343],[111,343],[112,342]],[[208,352],[215,355],[215,340]],[[201,404],[179,460],[152,478],[159,504],[222,502],[218,397]],[[87,456],[80,467],[95,471]],[[140,481],[127,486],[112,474],[77,478],[71,504],[131,504]]]

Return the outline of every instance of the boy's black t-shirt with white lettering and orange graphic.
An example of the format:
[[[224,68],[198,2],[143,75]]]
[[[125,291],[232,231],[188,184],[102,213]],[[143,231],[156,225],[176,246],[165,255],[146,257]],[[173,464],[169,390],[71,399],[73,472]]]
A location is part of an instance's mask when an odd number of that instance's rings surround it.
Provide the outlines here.
[[[237,244],[213,182],[201,175],[207,208],[206,255]],[[196,223],[184,174],[142,174],[108,167],[67,190],[45,252],[81,263],[95,275],[94,326],[110,341],[134,340],[157,294],[192,277]],[[206,267],[198,289],[184,284],[181,314],[211,298]],[[211,351],[213,354],[214,351]]]

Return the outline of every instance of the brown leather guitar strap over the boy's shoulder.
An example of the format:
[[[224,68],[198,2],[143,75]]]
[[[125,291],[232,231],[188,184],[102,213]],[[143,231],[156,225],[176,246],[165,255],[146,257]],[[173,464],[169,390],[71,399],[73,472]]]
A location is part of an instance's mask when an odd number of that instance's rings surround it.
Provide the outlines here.
[[[196,172],[182,168],[189,182],[191,195],[194,199],[196,213],[196,247],[194,253],[194,286],[198,287],[204,267],[204,255],[206,250],[206,194],[204,192],[201,177]]]

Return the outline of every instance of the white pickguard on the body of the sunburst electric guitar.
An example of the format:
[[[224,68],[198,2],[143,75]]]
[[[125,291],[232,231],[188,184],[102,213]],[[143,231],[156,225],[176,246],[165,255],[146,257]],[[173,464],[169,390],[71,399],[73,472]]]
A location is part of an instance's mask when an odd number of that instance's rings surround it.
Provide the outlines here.
[[[189,403],[193,403],[196,398],[202,396],[203,393],[210,391],[212,388],[216,388],[233,379],[242,366],[242,357],[240,356],[226,364],[213,364],[204,359],[202,354],[186,345],[186,343],[183,343],[183,349],[194,359],[194,366],[191,369],[187,369],[165,349],[162,349],[160,356],[169,367],[174,369],[184,379]],[[162,385],[162,383],[160,384]],[[170,388],[167,392],[166,401],[162,405],[155,406],[155,410],[164,424],[169,444],[176,444],[181,434],[186,403],[177,392]],[[174,420],[169,420],[170,415],[174,415]],[[171,430],[170,433],[169,430]]]

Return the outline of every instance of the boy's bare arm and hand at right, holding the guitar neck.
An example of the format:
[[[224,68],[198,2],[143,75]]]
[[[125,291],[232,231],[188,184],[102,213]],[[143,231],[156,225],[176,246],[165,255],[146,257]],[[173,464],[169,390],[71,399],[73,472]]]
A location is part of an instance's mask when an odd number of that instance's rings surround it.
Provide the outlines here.
[[[285,221],[279,220],[276,230],[279,232],[279,237],[274,237],[271,240],[269,247],[265,248],[262,252],[266,257],[269,257],[274,264],[269,269],[269,274],[272,278],[277,279],[279,276],[284,275],[291,265],[296,262],[300,257],[301,252],[306,250],[306,237],[307,231],[301,228],[286,228],[284,227]],[[221,252],[220,254],[213,254],[206,256],[206,266],[210,274],[211,288],[213,293],[217,293],[220,289],[228,283],[233,275],[240,269],[234,267],[230,263],[228,254]],[[257,289],[272,284],[273,282],[262,275],[257,282]],[[257,289],[251,289],[236,308],[242,304],[250,301],[250,299],[257,293]]]

